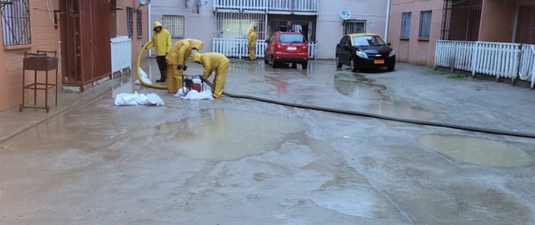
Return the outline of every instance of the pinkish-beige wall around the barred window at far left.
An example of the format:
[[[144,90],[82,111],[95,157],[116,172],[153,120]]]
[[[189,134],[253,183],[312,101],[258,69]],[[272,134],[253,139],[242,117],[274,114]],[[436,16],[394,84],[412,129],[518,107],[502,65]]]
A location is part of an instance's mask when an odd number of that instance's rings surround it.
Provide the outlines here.
[[[58,51],[59,30],[55,30],[53,22],[46,11],[46,1],[29,1],[32,44],[27,46],[2,46],[0,49],[0,110],[6,110],[22,103],[23,92],[23,58],[24,51]],[[53,8],[58,7],[58,0],[51,1]],[[51,82],[54,79],[51,76]],[[25,84],[34,82],[34,75],[26,72]],[[39,82],[42,82],[39,80]],[[44,80],[43,80],[44,82]],[[61,80],[60,80],[61,83]],[[26,91],[28,99],[33,94]]]

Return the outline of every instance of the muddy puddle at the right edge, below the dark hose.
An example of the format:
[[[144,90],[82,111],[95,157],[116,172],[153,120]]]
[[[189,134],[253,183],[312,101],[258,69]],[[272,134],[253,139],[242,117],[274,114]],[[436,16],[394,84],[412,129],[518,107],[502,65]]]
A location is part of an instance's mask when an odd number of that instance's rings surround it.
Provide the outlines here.
[[[448,158],[489,167],[529,167],[535,156],[518,146],[460,135],[424,135],[418,142]]]

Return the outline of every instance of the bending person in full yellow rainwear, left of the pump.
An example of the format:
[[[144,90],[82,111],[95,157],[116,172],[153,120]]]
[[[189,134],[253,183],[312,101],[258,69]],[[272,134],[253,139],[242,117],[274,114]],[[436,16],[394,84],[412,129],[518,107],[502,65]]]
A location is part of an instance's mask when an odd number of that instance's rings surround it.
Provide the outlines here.
[[[177,93],[178,89],[182,87],[184,81],[184,71],[187,70],[187,60],[191,56],[191,50],[201,51],[203,49],[203,41],[197,39],[183,39],[177,41],[175,46],[169,51],[168,56],[165,57],[168,63],[168,91]]]

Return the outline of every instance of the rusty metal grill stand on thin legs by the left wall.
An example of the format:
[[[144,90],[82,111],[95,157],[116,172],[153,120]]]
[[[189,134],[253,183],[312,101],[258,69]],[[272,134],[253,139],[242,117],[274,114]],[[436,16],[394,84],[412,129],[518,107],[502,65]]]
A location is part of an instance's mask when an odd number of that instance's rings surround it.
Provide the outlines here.
[[[48,56],[47,53],[53,53],[54,56]],[[49,107],[49,89],[56,88],[56,106],[58,106],[58,58],[56,51],[39,51],[37,53],[24,53],[23,60],[23,103],[19,105],[18,110],[23,108],[42,108],[46,113],[50,112]],[[26,70],[34,70],[34,83],[25,85]],[[56,70],[56,83],[49,84],[49,71]],[[45,82],[37,82],[37,71],[45,72]],[[34,106],[25,105],[25,90],[34,90]],[[44,107],[37,106],[37,90],[44,90]]]

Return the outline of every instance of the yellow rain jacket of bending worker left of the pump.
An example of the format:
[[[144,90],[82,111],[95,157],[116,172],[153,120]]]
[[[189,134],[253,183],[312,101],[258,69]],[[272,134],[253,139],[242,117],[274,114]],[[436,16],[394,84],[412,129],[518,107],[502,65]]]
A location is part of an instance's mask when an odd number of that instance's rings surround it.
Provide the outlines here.
[[[201,51],[203,46],[203,41],[197,39],[183,39],[177,41],[165,59],[168,61],[169,65],[187,65],[187,60],[189,56],[191,56],[191,49]]]

